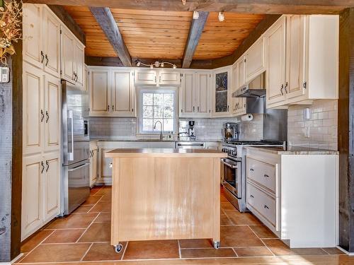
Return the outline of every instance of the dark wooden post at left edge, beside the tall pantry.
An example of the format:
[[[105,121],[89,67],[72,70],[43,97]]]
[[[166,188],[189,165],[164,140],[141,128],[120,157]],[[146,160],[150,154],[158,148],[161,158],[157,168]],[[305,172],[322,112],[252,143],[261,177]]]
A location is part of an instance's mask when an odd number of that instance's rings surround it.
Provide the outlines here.
[[[0,262],[21,252],[22,42],[8,59],[9,83],[0,83]]]

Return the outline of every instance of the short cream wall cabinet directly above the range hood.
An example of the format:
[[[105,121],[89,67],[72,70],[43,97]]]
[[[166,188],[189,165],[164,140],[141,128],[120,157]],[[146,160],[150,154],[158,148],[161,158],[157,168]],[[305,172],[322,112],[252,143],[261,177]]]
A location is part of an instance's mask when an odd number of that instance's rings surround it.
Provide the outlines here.
[[[260,37],[245,54],[246,82],[252,81],[265,71],[264,38]]]

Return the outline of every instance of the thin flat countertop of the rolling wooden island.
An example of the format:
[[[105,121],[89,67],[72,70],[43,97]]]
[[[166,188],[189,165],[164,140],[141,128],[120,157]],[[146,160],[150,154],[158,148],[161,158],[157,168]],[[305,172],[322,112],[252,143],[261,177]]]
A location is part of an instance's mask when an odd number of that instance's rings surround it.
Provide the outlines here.
[[[227,153],[213,149],[176,149],[176,148],[118,148],[105,153],[106,158],[145,158],[145,157],[181,157],[181,158],[227,158]]]

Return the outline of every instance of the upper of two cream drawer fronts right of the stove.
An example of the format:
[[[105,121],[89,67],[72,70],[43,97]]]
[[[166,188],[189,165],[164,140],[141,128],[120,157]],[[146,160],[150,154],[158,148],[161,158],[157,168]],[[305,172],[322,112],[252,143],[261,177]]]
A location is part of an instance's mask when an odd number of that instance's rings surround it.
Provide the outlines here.
[[[262,186],[276,191],[276,167],[274,165],[262,163],[261,161],[247,158],[247,177]]]

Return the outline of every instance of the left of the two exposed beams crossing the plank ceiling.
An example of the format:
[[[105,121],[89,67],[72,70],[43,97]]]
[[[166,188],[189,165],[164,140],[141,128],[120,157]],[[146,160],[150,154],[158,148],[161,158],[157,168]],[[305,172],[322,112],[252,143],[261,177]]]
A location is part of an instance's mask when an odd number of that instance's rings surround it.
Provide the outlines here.
[[[124,66],[132,66],[132,58],[130,57],[127,46],[125,46],[112,12],[110,12],[110,8],[90,7],[90,10],[107,36],[108,41],[113,46],[113,49],[120,58],[120,61],[122,61]]]

